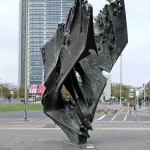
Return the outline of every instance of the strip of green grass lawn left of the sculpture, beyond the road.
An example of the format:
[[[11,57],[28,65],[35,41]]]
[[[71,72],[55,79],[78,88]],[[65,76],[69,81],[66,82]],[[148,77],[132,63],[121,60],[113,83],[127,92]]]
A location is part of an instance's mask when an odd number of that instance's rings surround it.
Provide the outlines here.
[[[42,110],[41,104],[28,103],[28,110]],[[0,103],[0,112],[7,111],[22,111],[24,110],[24,103]]]

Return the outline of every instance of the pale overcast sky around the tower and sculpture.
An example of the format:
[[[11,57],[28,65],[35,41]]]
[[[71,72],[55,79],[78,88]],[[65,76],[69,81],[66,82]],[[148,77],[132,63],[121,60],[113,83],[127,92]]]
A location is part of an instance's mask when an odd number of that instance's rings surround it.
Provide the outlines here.
[[[94,16],[106,0],[89,0]],[[142,86],[150,81],[150,1],[125,0],[129,42],[123,52],[123,84]],[[19,0],[0,0],[0,78],[18,82]],[[111,71],[112,82],[120,81],[120,59]]]

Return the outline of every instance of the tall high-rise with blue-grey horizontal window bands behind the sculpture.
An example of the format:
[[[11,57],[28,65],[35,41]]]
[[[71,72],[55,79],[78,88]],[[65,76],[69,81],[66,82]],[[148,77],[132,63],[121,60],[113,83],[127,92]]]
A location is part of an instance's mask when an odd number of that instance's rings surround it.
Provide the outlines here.
[[[43,82],[41,47],[64,23],[74,0],[20,0],[19,85],[25,83],[25,52],[28,47],[28,85]],[[26,41],[27,40],[27,41]]]

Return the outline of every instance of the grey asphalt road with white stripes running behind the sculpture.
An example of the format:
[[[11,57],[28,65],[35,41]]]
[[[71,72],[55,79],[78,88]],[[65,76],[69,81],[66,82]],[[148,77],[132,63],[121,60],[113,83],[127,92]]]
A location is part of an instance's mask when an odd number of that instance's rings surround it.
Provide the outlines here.
[[[138,109],[134,111],[132,108],[122,107],[120,109],[119,105],[106,105],[106,108],[117,109],[116,114],[97,114],[95,115],[94,122],[150,122],[150,113],[145,109]],[[131,110],[131,111],[130,111]],[[0,122],[2,121],[22,121],[24,120],[24,111],[14,111],[14,112],[1,112],[0,113]],[[38,111],[28,111],[28,120],[29,121],[41,121],[49,122],[51,121],[44,113],[43,110]]]

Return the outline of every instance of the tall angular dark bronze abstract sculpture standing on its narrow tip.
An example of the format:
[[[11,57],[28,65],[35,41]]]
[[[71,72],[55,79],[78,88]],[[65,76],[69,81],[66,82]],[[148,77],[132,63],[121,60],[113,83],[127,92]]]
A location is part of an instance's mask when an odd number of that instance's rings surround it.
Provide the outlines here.
[[[44,113],[76,144],[89,138],[99,98],[110,72],[127,44],[124,0],[109,1],[93,22],[86,0],[75,0],[66,24],[42,48]],[[78,77],[81,78],[79,82]],[[70,99],[61,93],[68,90]]]

